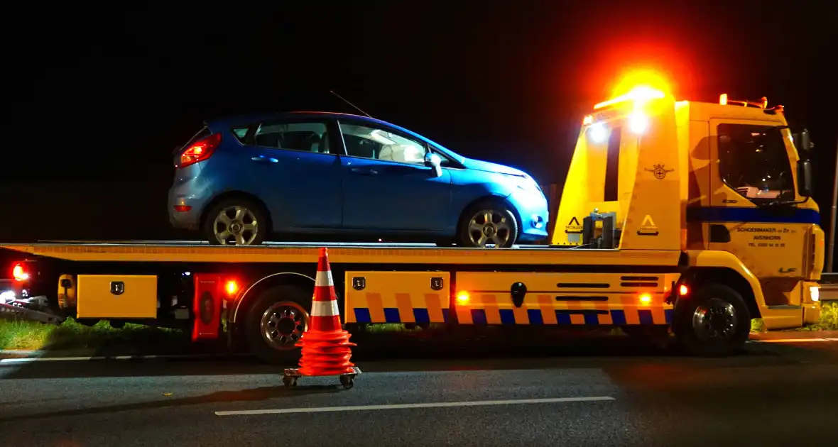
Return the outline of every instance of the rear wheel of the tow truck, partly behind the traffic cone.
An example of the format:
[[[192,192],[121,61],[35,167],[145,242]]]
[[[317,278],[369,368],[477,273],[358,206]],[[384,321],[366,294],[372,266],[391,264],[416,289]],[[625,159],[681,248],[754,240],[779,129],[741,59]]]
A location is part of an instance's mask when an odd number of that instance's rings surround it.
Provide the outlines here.
[[[262,362],[290,362],[308,329],[311,293],[297,285],[275,285],[261,292],[245,320],[247,346]]]

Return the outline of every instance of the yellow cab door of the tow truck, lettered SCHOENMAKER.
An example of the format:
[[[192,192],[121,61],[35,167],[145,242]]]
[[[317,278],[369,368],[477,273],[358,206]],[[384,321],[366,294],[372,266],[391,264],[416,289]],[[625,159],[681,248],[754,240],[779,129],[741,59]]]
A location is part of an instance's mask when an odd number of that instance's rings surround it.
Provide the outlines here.
[[[756,275],[766,305],[799,309],[809,223],[795,205],[788,130],[779,122],[711,120],[711,206],[702,208],[710,249],[736,254]],[[790,162],[791,160],[791,162]],[[801,312],[802,317],[802,312]]]

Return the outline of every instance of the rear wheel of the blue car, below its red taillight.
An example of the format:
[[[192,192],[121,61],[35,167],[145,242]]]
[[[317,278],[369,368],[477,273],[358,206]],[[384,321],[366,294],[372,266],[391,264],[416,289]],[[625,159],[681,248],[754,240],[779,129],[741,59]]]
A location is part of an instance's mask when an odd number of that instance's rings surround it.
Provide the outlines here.
[[[259,245],[267,231],[261,207],[244,198],[221,201],[209,210],[204,222],[204,236],[213,245]]]

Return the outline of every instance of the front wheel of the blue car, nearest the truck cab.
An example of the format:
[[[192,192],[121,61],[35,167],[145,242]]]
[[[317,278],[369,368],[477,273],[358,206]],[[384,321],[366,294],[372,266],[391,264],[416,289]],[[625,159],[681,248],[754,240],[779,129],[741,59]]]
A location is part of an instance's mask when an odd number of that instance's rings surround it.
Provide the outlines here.
[[[484,248],[494,244],[505,249],[518,239],[518,221],[515,215],[500,201],[475,203],[463,213],[458,242],[463,247]]]

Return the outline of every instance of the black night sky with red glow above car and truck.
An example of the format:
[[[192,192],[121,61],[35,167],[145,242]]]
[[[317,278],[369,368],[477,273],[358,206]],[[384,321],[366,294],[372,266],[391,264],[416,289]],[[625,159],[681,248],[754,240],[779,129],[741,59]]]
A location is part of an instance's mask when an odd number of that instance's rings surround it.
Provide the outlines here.
[[[563,182],[582,116],[625,69],[681,99],[786,106],[828,222],[835,3],[274,2],[53,7],[3,18],[0,239],[171,239],[171,152],[204,118],[354,112]],[[675,82],[676,81],[676,82]]]

